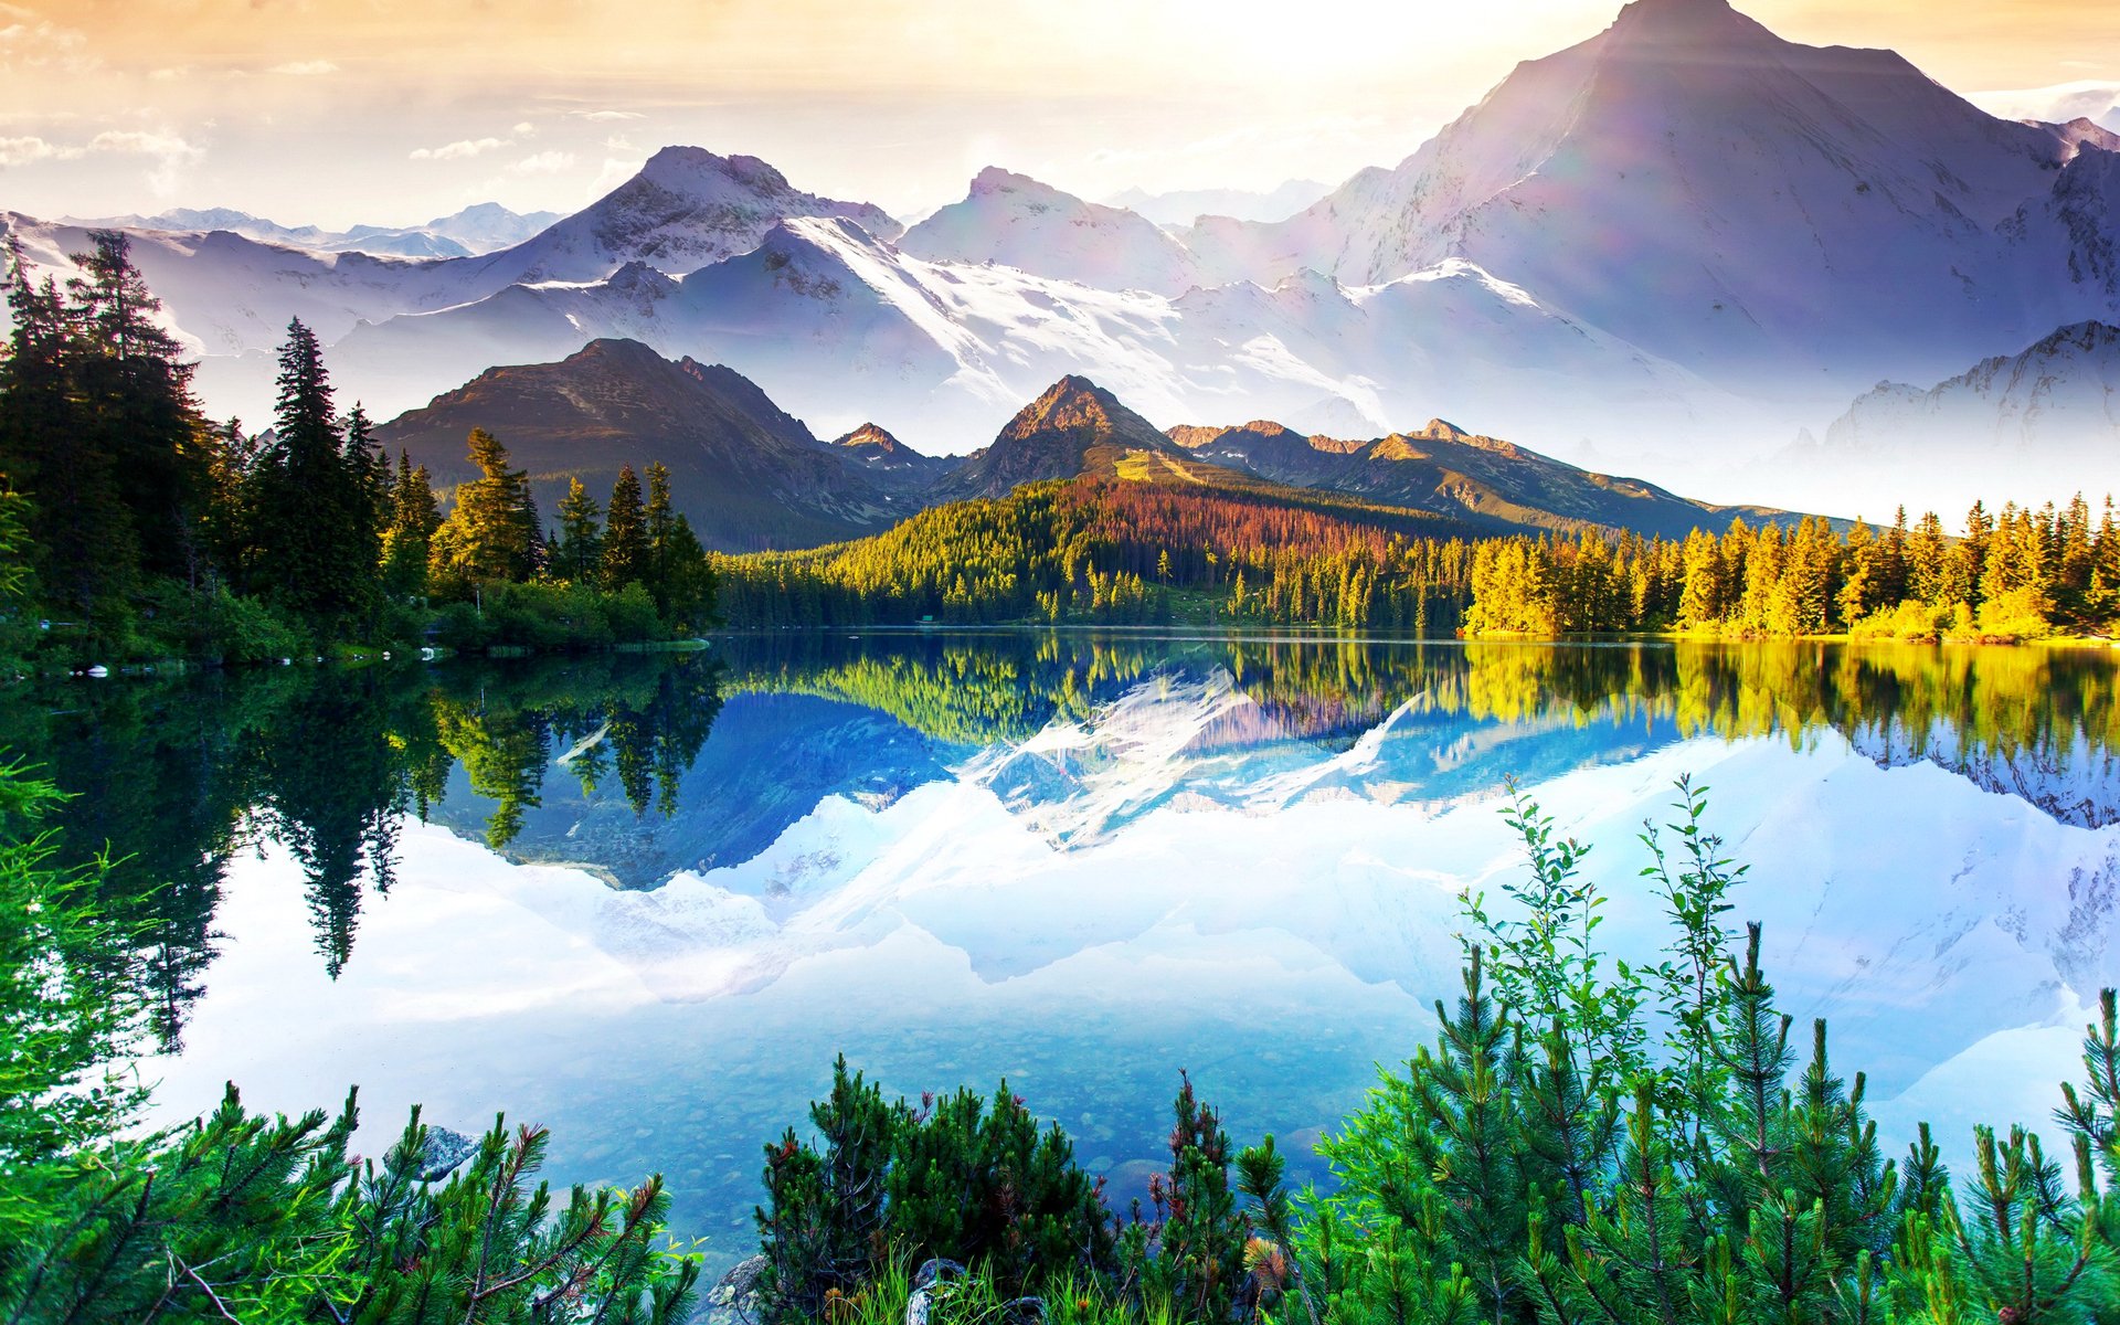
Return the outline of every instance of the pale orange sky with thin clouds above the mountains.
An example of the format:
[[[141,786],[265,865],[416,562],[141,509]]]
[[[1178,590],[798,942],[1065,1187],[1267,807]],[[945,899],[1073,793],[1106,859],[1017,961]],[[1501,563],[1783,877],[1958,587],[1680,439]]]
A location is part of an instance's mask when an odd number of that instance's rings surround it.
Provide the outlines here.
[[[1713,2],[1713,0],[1709,0]],[[2120,78],[2109,0],[1753,0],[1974,93]],[[0,210],[577,210],[659,146],[901,216],[1391,165],[1615,0],[0,0]]]

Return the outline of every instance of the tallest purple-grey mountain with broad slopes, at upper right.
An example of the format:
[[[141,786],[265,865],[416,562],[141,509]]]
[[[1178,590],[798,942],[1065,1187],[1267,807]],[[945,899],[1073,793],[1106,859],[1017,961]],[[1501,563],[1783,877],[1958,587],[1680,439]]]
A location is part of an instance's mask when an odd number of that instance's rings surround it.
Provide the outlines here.
[[[1747,394],[1933,377],[2116,305],[2120,146],[1999,121],[1891,51],[1637,0],[1518,66],[1393,170],[1278,225],[1208,218],[1223,278],[1376,284],[1448,259]]]

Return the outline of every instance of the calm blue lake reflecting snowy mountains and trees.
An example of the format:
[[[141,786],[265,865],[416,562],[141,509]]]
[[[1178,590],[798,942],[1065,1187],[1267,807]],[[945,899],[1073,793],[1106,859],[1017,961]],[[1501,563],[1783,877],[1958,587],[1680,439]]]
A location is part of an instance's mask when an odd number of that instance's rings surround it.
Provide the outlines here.
[[[1007,1077],[1138,1191],[1179,1071],[1306,1151],[1454,996],[1507,787],[1660,922],[1673,782],[1751,865],[1785,1011],[1830,1015],[1889,1149],[2044,1124],[2120,984],[2120,655],[1100,632],[17,687],[0,744],[148,924],[157,1115],[363,1092],[553,1128],[558,1181],[664,1170],[746,1255],[761,1145],[846,1054]],[[2050,1130],[2050,1128],[2048,1128]],[[1312,1164],[1297,1170],[1317,1177]]]

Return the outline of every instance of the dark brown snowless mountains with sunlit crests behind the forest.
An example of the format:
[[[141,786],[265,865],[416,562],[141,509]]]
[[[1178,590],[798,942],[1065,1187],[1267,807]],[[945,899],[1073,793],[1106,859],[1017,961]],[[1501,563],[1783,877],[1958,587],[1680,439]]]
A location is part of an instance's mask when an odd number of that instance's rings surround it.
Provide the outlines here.
[[[1255,500],[1359,505],[1452,528],[1635,530],[1683,536],[1732,515],[1783,511],[1690,502],[1637,479],[1562,464],[1431,422],[1376,441],[1302,437],[1272,422],[1158,430],[1113,392],[1062,377],[971,456],[924,456],[876,424],[818,441],[742,373],[668,360],[623,339],[558,363],[500,367],[382,428],[441,488],[475,477],[471,428],[494,432],[551,515],[570,477],[604,500],[619,469],[670,466],[674,505],[708,547],[814,547],[897,524],[924,507],[1007,496],[1024,483],[1102,477]]]

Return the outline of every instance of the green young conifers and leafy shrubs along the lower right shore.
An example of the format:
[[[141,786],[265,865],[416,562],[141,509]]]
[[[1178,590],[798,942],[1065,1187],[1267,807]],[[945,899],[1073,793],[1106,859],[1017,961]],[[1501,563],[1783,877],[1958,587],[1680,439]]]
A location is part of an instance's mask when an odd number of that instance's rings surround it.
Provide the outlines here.
[[[880,1319],[878,1304],[907,1300],[905,1268],[939,1255],[971,1278],[929,1293],[931,1321],[1020,1319],[1018,1285],[1043,1293],[1047,1321],[2120,1319],[2114,994],[2084,1041],[2086,1081],[2054,1115],[2059,1155],[2012,1126],[1976,1130],[1959,1183],[1927,1128],[1887,1158],[1863,1077],[1836,1068],[1823,1022],[1798,1037],[1774,1009],[1757,926],[1741,943],[1726,929],[1743,869],[1707,831],[1702,793],[1679,793],[1673,825],[1643,835],[1671,941],[1632,962],[1598,946],[1605,897],[1579,873],[1586,848],[1537,806],[1509,808],[1531,869],[1505,907],[1463,899],[1463,992],[1435,1005],[1437,1041],[1384,1071],[1319,1147],[1329,1189],[1291,1194],[1272,1138],[1230,1155],[1187,1083],[1172,1172],[1151,1189],[1160,1217],[1115,1219],[1109,1259],[1073,1247],[1026,1259],[1018,1244],[1003,1266],[990,1247],[914,1236],[903,1198],[869,1185],[854,1238],[867,1259],[835,1302]],[[1066,1153],[1058,1128],[1049,1136]],[[767,1240],[787,1208],[761,1211]],[[767,1293],[770,1317],[831,1314],[784,1287]]]

